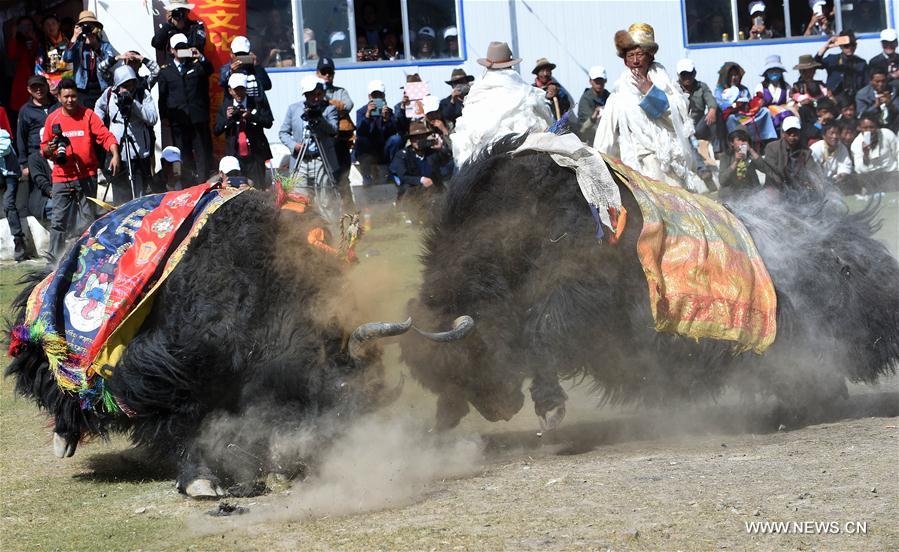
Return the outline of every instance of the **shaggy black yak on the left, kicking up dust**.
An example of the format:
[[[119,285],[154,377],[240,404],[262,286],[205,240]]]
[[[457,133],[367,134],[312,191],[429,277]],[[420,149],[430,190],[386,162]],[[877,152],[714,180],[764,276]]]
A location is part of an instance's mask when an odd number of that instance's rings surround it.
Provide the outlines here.
[[[6,374],[53,417],[57,456],[74,454],[86,436],[127,432],[177,464],[181,491],[214,497],[226,483],[243,492],[260,473],[302,469],[305,459],[272,454],[275,434],[309,431],[324,446],[339,431],[324,420],[394,398],[398,386],[385,384],[374,341],[411,321],[347,326],[334,312],[345,263],[309,240],[321,226],[255,191],[210,217],[105,380],[127,413],[83,409],[58,386],[41,347],[16,351]],[[39,279],[17,299],[19,323]],[[239,423],[209,431],[229,417]]]

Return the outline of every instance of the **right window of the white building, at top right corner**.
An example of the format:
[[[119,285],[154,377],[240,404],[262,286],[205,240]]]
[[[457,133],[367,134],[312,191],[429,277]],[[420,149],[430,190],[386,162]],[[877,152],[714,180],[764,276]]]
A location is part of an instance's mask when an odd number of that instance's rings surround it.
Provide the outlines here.
[[[875,33],[887,0],[683,0],[688,46]]]

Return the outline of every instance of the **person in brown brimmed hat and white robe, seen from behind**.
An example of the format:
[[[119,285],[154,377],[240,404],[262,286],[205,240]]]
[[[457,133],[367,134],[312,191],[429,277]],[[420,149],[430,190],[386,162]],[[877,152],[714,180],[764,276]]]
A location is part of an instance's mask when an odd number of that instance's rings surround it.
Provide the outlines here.
[[[476,152],[507,134],[542,132],[553,124],[546,92],[525,82],[514,67],[505,42],[491,42],[478,60],[487,68],[465,98],[462,116],[453,134],[453,158],[462,166]]]

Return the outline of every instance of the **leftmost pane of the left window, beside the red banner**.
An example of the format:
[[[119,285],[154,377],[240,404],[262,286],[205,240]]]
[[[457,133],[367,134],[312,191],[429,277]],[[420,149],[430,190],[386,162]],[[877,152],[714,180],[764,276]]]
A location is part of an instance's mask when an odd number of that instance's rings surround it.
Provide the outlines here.
[[[293,47],[292,0],[247,2],[247,38],[250,49],[262,65],[296,65]]]

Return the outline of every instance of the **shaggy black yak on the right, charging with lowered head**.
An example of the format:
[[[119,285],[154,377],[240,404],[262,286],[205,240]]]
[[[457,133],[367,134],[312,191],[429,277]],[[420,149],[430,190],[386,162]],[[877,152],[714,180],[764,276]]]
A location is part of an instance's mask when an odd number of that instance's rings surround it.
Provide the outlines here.
[[[469,404],[508,420],[530,392],[543,425],[564,416],[560,380],[586,377],[603,401],[655,405],[714,398],[728,385],[773,394],[799,414],[873,382],[899,361],[899,264],[873,239],[875,210],[824,200],[728,208],[746,225],[774,284],[777,337],[762,355],[730,342],[655,330],[636,252],[642,216],[616,182],[628,220],[620,242],[595,237],[574,172],[549,155],[512,157],[507,137],[451,181],[424,242],[423,282],[410,315],[476,329],[438,345],[401,340],[415,379],[438,396],[437,426]]]

